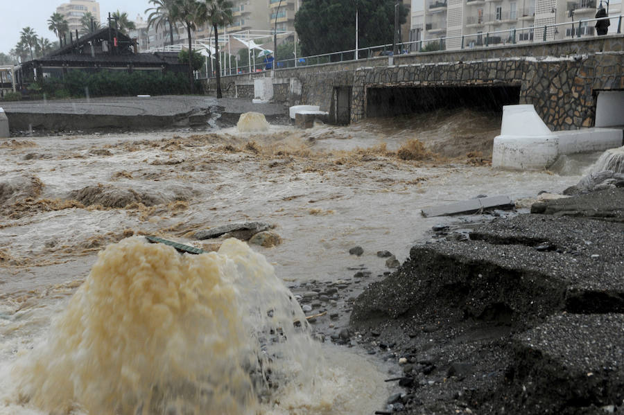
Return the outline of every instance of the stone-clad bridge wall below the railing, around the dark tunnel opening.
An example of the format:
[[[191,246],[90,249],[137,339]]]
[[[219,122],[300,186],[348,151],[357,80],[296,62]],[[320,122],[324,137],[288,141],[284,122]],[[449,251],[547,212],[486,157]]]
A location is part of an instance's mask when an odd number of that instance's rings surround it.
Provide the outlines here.
[[[423,53],[222,78],[228,96],[253,97],[253,79],[274,76],[275,100],[329,111],[333,89],[351,87],[351,120],[366,116],[367,91],[379,87],[520,87],[551,130],[591,127],[598,91],[624,90],[624,37],[578,39],[488,51]],[[555,56],[560,58],[554,58]],[[297,80],[300,91],[293,93]],[[209,91],[214,90],[210,80]]]

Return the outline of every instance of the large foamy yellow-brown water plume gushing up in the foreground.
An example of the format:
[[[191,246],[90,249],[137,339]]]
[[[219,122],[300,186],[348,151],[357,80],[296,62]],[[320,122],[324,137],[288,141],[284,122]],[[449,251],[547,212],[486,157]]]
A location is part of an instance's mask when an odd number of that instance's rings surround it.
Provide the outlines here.
[[[381,375],[369,369],[372,393],[349,407],[361,382],[324,360],[307,326],[271,265],[243,242],[191,256],[129,238],[98,255],[46,339],[17,361],[5,399],[60,414],[379,407]]]

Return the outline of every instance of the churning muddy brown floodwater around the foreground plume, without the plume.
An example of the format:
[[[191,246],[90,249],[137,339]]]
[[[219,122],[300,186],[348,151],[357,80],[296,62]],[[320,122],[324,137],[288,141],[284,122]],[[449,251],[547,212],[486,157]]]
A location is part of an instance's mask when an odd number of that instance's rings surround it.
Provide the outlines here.
[[[0,206],[0,414],[62,407],[58,400],[51,403],[51,396],[59,394],[39,393],[46,385],[24,381],[33,377],[15,367],[73,358],[58,346],[62,330],[68,330],[67,324],[59,327],[69,318],[68,310],[82,310],[71,298],[85,279],[95,278],[89,271],[110,243],[153,234],[214,250],[221,240],[194,241],[192,234],[229,222],[270,222],[281,245],[252,245],[252,252],[272,265],[266,279],[276,292],[288,285],[301,293],[311,281],[352,284],[357,269],[374,276],[388,272],[377,251],[391,251],[403,261],[434,224],[457,221],[422,218],[420,209],[484,194],[535,197],[578,182],[578,175],[492,170],[488,158],[499,125],[499,115],[464,110],[311,130],[272,125],[262,133],[230,128],[3,140],[0,181],[9,202]],[[414,139],[424,148],[409,143]],[[399,157],[401,148],[411,156]],[[42,186],[28,193],[23,184],[33,181]],[[363,247],[361,256],[349,254],[356,245]],[[223,261],[232,260],[228,255],[223,253]],[[308,360],[293,357],[289,376],[307,371],[297,378],[300,384],[278,389],[265,397],[265,406],[245,411],[362,414],[383,409],[389,394],[383,385],[387,365],[363,357],[358,347],[315,344],[320,351],[314,353],[327,360],[324,366],[313,371],[304,363]],[[82,346],[77,346],[81,356],[95,353],[106,361],[109,352]],[[130,354],[110,359],[132,360]],[[170,357],[150,355],[159,362]],[[130,369],[123,372],[130,376],[123,385],[149,382]],[[56,373],[45,365],[37,370],[30,373]],[[89,376],[75,373],[66,401],[78,405],[62,410],[87,411],[81,399],[121,399],[94,397],[97,391],[87,391]],[[110,379],[114,382],[114,376]],[[141,386],[136,390],[149,389]],[[211,396],[218,390],[211,389]],[[128,400],[115,410],[130,413],[135,404]],[[92,413],[98,408],[92,407]]]

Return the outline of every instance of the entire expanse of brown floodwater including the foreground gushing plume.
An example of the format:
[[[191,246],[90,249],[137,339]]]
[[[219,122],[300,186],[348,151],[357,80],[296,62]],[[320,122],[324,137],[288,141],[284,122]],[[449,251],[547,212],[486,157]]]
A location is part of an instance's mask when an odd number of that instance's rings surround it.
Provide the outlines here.
[[[1,141],[0,414],[383,409],[387,368],[286,324],[302,311],[285,285],[387,271],[377,251],[404,261],[434,224],[462,220],[423,218],[428,206],[578,182],[492,170],[499,125],[499,114],[462,110],[311,130]],[[281,245],[191,238],[244,221],[275,224]],[[218,251],[186,258],[144,234]],[[349,255],[356,245],[362,256]],[[281,330],[284,342],[263,340]]]

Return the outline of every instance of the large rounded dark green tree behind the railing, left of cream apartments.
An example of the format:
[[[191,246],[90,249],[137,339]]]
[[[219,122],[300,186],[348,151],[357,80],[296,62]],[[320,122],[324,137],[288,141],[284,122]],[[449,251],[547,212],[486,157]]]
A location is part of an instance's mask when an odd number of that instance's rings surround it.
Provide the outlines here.
[[[358,10],[358,47],[392,43],[395,0],[303,1],[295,15],[302,55],[347,51],[355,47],[355,15]],[[399,3],[399,24],[408,12]]]

